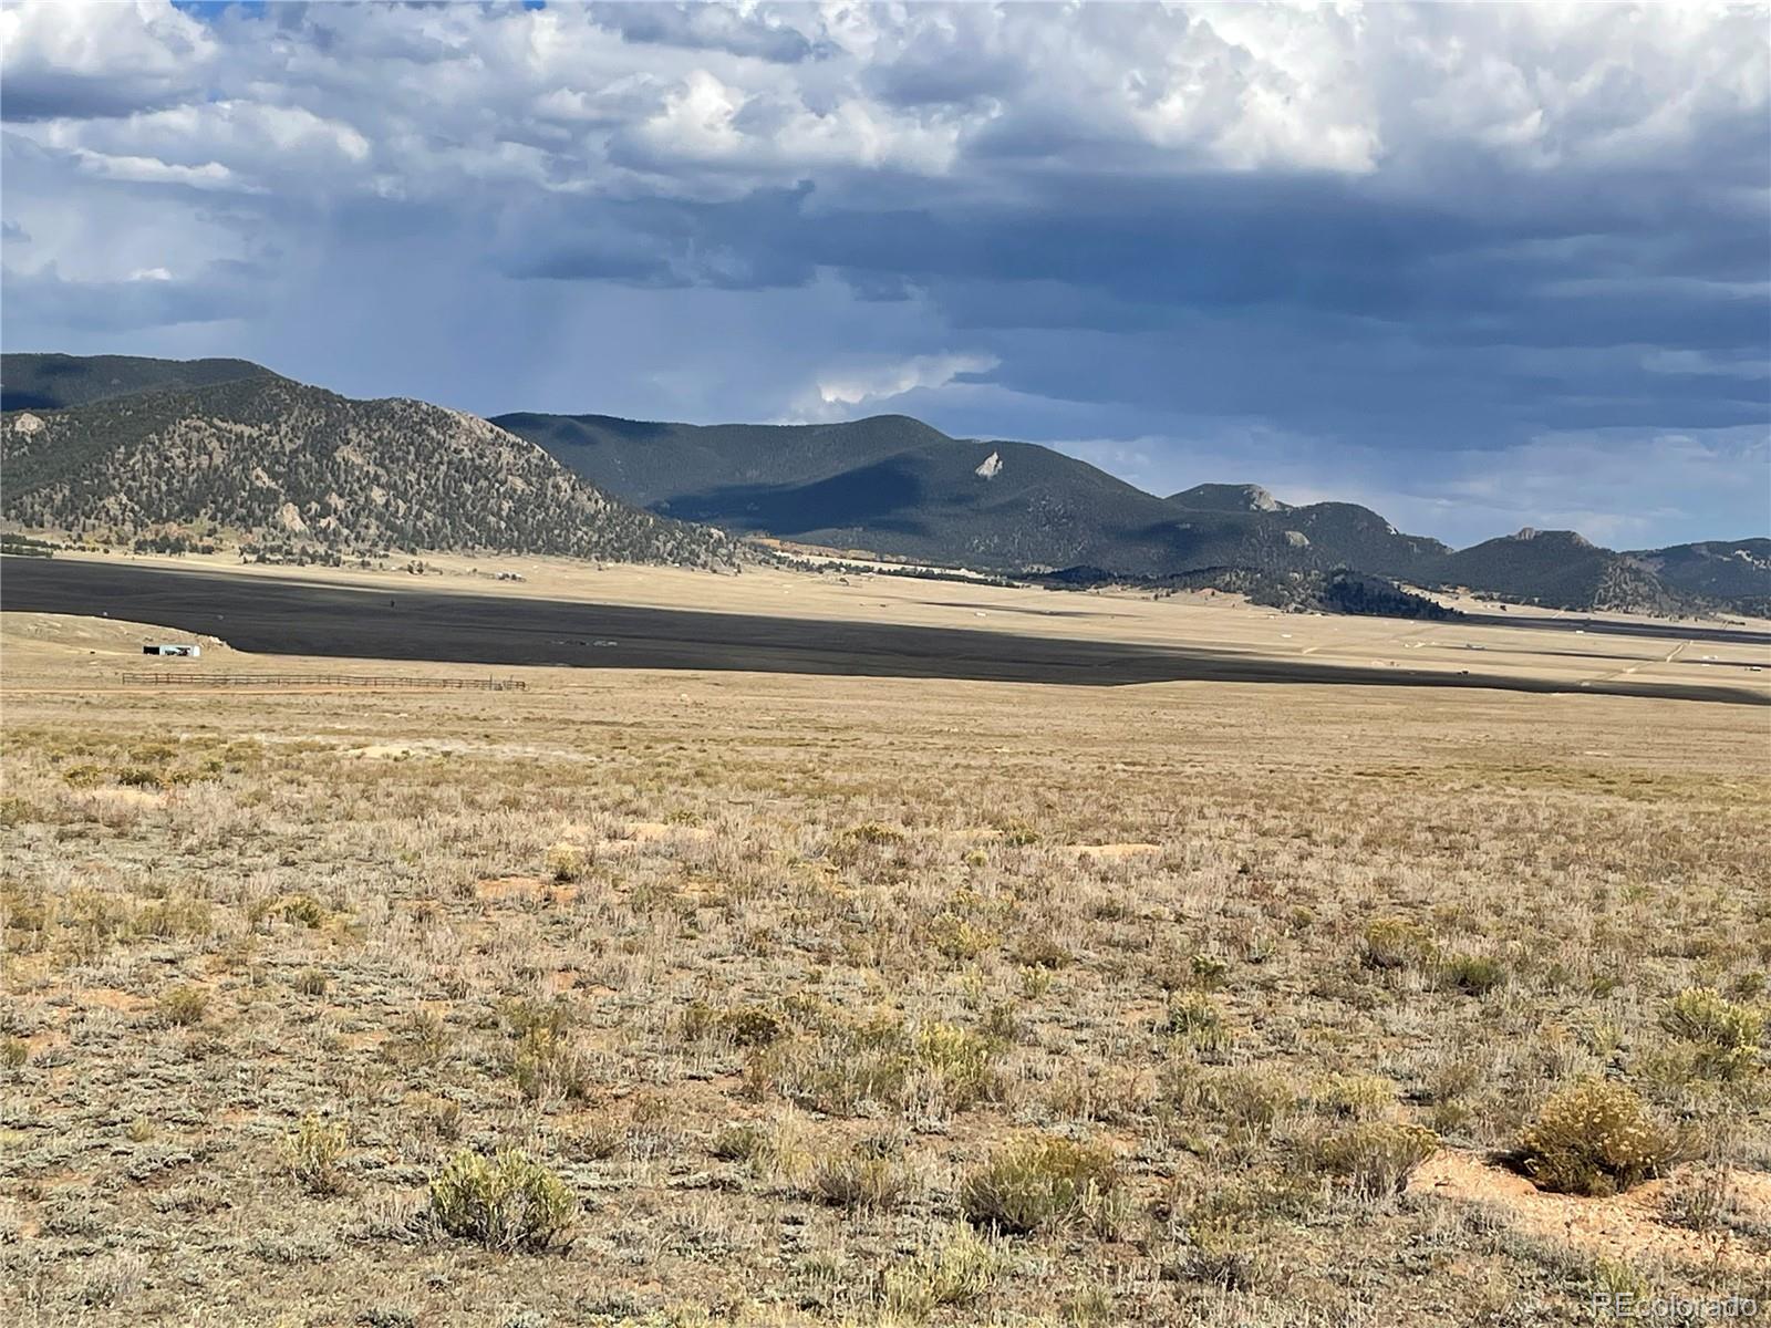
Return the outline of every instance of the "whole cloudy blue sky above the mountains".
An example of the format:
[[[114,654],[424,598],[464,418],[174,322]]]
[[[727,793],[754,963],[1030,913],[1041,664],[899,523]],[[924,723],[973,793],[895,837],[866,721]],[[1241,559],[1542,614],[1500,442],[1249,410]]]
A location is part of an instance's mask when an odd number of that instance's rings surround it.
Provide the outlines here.
[[[1771,533],[1766,5],[0,7],[0,345]]]

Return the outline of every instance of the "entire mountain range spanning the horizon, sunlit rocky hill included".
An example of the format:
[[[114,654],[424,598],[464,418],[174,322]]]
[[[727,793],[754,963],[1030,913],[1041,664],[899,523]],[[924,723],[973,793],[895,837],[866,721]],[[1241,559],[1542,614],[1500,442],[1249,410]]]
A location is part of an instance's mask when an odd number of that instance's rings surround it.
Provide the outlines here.
[[[243,359],[51,354],[0,356],[0,517],[25,528],[689,565],[737,560],[728,535],[770,535],[1001,574],[1350,568],[1569,609],[1771,609],[1766,538],[1617,552],[1525,529],[1450,549],[1353,503],[1293,506],[1234,483],[1164,498],[1040,444],[955,439],[907,416],[485,421],[349,400]]]

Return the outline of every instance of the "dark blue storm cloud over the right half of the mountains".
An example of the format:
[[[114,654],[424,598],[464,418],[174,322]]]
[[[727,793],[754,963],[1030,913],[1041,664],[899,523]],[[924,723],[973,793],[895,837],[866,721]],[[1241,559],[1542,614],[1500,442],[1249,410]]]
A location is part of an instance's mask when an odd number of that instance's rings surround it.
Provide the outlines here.
[[[1645,374],[1640,356],[1535,356],[1521,368],[1475,354],[1762,347],[1762,296],[1730,285],[1752,271],[1753,243],[1728,216],[1698,216],[1672,241],[1635,220],[1596,237],[1597,211],[1472,220],[1326,177],[1236,175],[1135,197],[1112,186],[1034,216],[965,198],[818,207],[804,188],[590,211],[595,220],[581,207],[540,230],[618,235],[620,251],[524,248],[514,271],[724,289],[832,271],[864,297],[917,289],[956,329],[1100,333],[1098,354],[1059,349],[1050,361],[1025,344],[1002,354],[1004,342],[985,342],[1002,356],[1001,382],[1070,400],[1211,413],[1261,400],[1280,421],[1362,421],[1365,434],[1419,446],[1502,444],[1527,423],[1720,427],[1766,414],[1762,384],[1718,391],[1705,375]]]

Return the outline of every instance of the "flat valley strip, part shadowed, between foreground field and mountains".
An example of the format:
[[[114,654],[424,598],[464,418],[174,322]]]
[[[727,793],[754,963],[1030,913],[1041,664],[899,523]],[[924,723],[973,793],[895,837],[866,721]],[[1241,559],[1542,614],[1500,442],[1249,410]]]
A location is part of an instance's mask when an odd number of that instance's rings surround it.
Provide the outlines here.
[[[1582,689],[1771,703],[1771,634],[1713,625],[1543,614],[1413,623],[884,577],[855,586],[799,572],[655,575],[708,607],[668,595],[662,607],[623,600],[622,581],[595,574],[547,579],[544,593],[482,577],[191,572],[135,560],[11,560],[0,604],[143,616],[244,650],[299,655],[1102,685]],[[641,577],[630,574],[629,593]]]

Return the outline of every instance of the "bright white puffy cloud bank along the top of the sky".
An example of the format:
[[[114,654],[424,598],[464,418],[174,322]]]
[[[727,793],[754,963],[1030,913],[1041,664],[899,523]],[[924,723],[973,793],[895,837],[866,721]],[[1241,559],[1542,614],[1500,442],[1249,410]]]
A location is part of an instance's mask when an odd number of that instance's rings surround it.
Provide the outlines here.
[[[1002,159],[1374,175],[1443,205],[1466,158],[1672,165],[1771,97],[1764,11],[1674,5],[321,5],[205,25],[140,0],[9,5],[0,44],[9,113],[60,124],[39,142],[402,198],[808,175],[831,197]],[[776,58],[793,51],[816,57]]]

